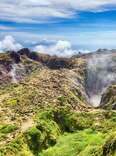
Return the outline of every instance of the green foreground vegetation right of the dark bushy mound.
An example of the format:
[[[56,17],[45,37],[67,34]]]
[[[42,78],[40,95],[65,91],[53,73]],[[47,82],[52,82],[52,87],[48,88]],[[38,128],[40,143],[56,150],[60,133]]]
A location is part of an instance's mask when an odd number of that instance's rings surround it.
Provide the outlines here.
[[[115,156],[116,123],[112,121],[115,112],[74,113],[60,109],[52,113],[46,111],[40,118],[46,119],[46,116],[57,122],[63,135],[40,156]]]

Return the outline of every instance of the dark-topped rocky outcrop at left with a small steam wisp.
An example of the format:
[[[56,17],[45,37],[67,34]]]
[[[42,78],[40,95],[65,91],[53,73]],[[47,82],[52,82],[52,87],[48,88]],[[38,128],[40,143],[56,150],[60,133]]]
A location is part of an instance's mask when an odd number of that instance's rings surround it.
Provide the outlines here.
[[[27,51],[22,49],[20,52],[9,51],[0,54],[0,87],[21,81],[37,68],[42,68],[41,63],[27,56]]]

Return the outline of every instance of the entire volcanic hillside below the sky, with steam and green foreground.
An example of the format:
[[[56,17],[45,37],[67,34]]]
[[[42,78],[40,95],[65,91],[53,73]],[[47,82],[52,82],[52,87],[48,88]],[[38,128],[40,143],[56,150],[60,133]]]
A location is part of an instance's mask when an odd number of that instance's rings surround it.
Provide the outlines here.
[[[114,51],[0,53],[0,155],[115,156],[115,73]]]

